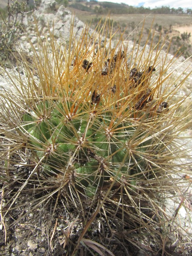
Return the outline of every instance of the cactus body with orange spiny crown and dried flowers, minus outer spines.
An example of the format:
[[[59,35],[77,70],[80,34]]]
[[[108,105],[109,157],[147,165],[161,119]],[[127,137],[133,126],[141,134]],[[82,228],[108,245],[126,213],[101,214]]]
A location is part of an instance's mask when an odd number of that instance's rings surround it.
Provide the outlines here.
[[[110,56],[104,62],[105,67],[108,65],[106,74],[103,70],[95,71],[98,56],[91,63],[79,58],[78,69],[74,66],[72,72],[74,77],[80,72],[84,76],[80,81],[82,88],[75,88],[74,81],[70,81],[66,90],[63,77],[63,95],[51,88],[58,99],[48,96],[39,100],[21,118],[29,147],[37,158],[45,156],[44,172],[72,176],[74,186],[86,195],[94,196],[114,179],[120,186],[125,181],[131,184],[134,180],[154,178],[156,174],[151,165],[149,169],[146,155],[155,162],[157,147],[159,151],[164,148],[162,142],[155,141],[154,129],[145,129],[154,119],[154,127],[159,126],[158,120],[162,122],[160,106],[168,110],[166,102],[154,100],[156,88],[153,92],[150,89],[149,80],[155,68],[148,66],[142,72],[133,68],[125,78],[125,56],[124,51]],[[112,77],[115,84],[108,86]],[[101,81],[94,85],[90,78]],[[83,94],[79,93],[82,89]]]

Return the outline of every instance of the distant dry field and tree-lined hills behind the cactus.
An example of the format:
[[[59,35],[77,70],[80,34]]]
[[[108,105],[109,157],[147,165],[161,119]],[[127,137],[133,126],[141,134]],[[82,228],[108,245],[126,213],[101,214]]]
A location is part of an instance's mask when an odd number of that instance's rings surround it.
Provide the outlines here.
[[[92,24],[95,28],[98,21],[110,14],[111,24],[113,22],[114,31],[118,28],[124,31],[127,38],[137,40],[140,38],[143,21],[145,20],[144,30],[142,30],[141,44],[145,44],[148,38],[148,32],[155,32],[155,40],[166,38],[167,44],[172,41],[170,53],[184,58],[192,55],[191,34],[180,34],[174,31],[174,26],[191,24],[192,10],[190,8],[170,8],[168,6],[157,7],[154,9],[128,6],[126,4],[116,4],[110,2],[84,2],[70,1],[68,3],[70,10],[74,11],[76,16],[83,22]],[[153,24],[153,25],[152,25]],[[186,32],[185,32],[186,33]],[[148,38],[150,40],[150,38]],[[178,52],[178,48],[180,51]]]

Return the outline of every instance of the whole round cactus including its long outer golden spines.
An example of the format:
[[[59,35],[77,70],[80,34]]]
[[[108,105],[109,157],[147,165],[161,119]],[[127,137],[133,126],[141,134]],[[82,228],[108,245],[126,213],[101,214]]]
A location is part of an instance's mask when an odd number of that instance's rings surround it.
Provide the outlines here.
[[[40,42],[38,52],[32,46],[32,64],[24,59],[21,63],[27,79],[18,78],[19,86],[14,82],[22,95],[20,109],[8,97],[17,110],[7,108],[4,114],[13,120],[4,134],[11,132],[18,145],[10,146],[8,159],[22,149],[35,165],[10,208],[29,180],[38,180],[37,193],[40,187],[42,192],[50,188],[40,203],[62,195],[65,209],[76,209],[84,227],[70,249],[72,255],[88,244],[84,235],[102,218],[110,232],[120,225],[120,230],[140,232],[140,238],[144,229],[159,235],[154,226],[161,222],[154,215],[160,209],[160,192],[175,173],[172,160],[184,157],[175,140],[190,113],[186,108],[180,117],[177,110],[185,99],[176,101],[175,87],[165,85],[173,72],[168,73],[171,61],[160,66],[159,45],[155,56],[151,43],[148,55],[144,47],[134,60],[134,51],[129,53],[120,41],[112,48],[111,39],[105,39],[109,47],[102,48],[99,41],[96,48],[98,37],[96,32],[89,37],[85,30],[80,41],[70,38],[69,49],[53,38],[50,44]],[[162,218],[164,212],[157,216]],[[137,246],[137,238],[123,239]]]

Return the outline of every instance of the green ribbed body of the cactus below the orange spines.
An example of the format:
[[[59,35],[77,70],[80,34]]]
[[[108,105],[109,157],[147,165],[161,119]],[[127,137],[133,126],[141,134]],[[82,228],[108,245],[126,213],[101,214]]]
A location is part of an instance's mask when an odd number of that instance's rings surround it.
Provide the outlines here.
[[[46,106],[40,104],[38,110],[48,111]],[[70,113],[71,108],[72,103],[67,104],[66,110],[59,103],[49,119],[26,125],[29,142],[38,148],[37,155],[42,157],[46,153],[43,164],[49,174],[51,170],[53,174],[66,171],[69,164],[74,166],[76,188],[83,188],[90,197],[113,177],[120,181],[122,176],[130,179],[142,173],[145,160],[130,154],[127,144],[136,131],[131,122],[118,123],[111,112],[87,113],[88,104],[84,105],[85,111],[80,107],[79,114],[69,117],[65,111]],[[34,122],[30,114],[23,116],[26,120]],[[143,152],[151,143],[151,139],[146,139],[138,150]]]

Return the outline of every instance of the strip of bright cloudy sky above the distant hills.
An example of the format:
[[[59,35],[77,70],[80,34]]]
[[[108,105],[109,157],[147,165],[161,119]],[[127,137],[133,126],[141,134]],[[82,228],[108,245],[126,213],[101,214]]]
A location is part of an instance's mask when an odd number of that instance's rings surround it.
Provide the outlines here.
[[[169,6],[170,8],[190,8],[192,9],[191,0],[98,0],[98,2],[124,3],[130,6],[150,7],[151,9],[161,6]]]

